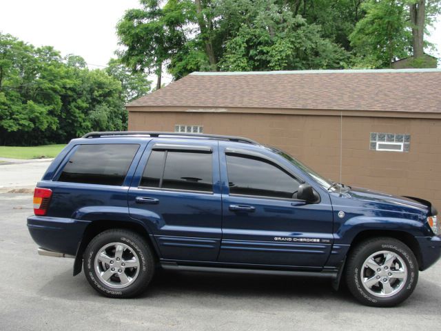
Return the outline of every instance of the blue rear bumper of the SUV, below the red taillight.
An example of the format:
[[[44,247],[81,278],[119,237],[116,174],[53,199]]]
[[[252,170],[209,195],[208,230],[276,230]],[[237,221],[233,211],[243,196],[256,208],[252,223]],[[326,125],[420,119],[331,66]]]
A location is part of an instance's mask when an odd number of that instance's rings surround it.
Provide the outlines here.
[[[44,250],[75,255],[89,221],[61,217],[28,217],[32,239]]]

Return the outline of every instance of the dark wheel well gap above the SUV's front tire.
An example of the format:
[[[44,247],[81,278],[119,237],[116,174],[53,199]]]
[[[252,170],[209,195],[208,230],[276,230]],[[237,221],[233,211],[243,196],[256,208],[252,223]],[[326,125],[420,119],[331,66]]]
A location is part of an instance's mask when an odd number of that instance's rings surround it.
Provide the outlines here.
[[[358,233],[356,237],[353,239],[351,243],[351,249],[349,250],[348,254],[350,254],[351,250],[353,250],[353,248],[355,248],[356,245],[358,245],[358,243],[365,241],[366,239],[371,239],[376,237],[391,237],[399,241],[402,241],[402,243],[405,243],[412,250],[413,254],[415,255],[418,261],[418,266],[419,268],[421,268],[422,257],[421,257],[421,250],[418,241],[411,234],[402,231],[388,231],[388,230],[362,231]]]

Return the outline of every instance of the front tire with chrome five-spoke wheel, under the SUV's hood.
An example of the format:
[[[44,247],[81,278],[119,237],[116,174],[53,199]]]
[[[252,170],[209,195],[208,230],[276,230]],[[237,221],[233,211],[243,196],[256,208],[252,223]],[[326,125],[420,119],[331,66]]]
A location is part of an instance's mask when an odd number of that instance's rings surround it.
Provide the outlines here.
[[[345,276],[349,291],[361,303],[392,307],[415,290],[418,261],[412,250],[397,239],[368,239],[349,254]]]

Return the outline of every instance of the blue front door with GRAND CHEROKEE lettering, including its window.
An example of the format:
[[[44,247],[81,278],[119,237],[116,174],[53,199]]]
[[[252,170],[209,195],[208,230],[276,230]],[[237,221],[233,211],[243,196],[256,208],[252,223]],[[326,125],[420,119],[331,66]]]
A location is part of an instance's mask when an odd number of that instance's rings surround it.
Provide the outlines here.
[[[254,148],[254,150],[253,150]],[[223,237],[218,261],[321,268],[332,244],[329,195],[292,199],[304,181],[263,148],[220,143]]]

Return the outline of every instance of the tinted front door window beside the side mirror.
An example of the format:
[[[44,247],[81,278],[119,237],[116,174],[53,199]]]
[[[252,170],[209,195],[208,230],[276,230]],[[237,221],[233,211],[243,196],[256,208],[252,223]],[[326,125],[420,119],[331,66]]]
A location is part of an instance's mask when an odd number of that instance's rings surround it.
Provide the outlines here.
[[[264,159],[227,155],[230,194],[291,199],[300,183]]]

